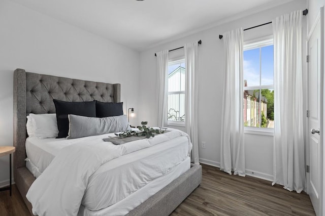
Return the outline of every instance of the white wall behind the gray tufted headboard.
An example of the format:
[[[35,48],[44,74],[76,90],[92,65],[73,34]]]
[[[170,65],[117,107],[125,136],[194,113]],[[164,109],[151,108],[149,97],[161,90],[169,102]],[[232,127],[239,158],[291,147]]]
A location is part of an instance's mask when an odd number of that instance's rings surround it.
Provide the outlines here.
[[[0,29],[0,146],[13,145],[16,68],[121,83],[124,113],[126,107],[137,111],[139,52],[7,0],[0,0]],[[0,158],[0,187],[8,182],[9,156],[5,156]]]

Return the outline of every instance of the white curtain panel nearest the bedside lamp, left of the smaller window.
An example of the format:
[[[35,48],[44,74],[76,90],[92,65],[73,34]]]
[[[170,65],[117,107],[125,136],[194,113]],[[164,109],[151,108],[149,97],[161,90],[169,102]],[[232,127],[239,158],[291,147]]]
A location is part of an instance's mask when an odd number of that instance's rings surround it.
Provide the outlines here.
[[[157,55],[157,97],[156,110],[158,114],[158,126],[167,126],[167,100],[168,100],[168,50],[163,50]]]

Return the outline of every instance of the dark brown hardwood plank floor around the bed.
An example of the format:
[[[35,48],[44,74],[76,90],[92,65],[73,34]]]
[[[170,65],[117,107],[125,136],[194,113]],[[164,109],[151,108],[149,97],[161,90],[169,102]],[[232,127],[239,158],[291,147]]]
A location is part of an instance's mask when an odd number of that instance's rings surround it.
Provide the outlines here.
[[[202,165],[202,184],[171,214],[177,215],[315,215],[309,196],[271,186],[253,177],[230,176],[219,168]],[[28,215],[28,209],[13,185],[0,192],[0,216]]]

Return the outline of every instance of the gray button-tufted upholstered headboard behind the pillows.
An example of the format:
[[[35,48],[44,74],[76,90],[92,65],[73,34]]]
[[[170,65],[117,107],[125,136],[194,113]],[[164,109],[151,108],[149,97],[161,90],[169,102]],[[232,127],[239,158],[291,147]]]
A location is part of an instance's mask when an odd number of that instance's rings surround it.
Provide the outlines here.
[[[120,102],[120,84],[84,81],[51,75],[14,72],[14,168],[25,166],[26,116],[55,113],[53,99],[61,101]]]

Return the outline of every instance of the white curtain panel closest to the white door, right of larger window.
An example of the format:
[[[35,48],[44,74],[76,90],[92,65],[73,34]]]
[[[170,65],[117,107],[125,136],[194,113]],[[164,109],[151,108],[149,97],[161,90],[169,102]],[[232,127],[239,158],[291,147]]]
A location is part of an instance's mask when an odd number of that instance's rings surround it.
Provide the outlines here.
[[[274,184],[300,193],[306,185],[302,11],[272,20],[274,36]]]

